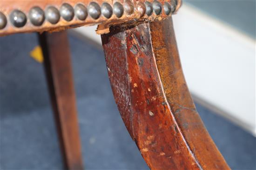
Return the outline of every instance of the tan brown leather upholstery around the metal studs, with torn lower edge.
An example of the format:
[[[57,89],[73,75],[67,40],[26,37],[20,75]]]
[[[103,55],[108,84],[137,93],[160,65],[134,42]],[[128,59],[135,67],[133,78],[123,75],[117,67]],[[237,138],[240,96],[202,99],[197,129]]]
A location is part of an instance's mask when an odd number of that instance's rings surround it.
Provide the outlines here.
[[[92,2],[96,2],[99,4],[99,6],[102,5],[102,3],[107,2],[113,7],[113,4],[115,2],[120,2],[121,4],[124,4],[127,2],[127,0],[41,0],[41,1],[25,1],[25,0],[0,0],[0,12],[3,13],[7,18],[7,25],[5,28],[0,30],[0,36],[18,33],[18,32],[32,32],[32,31],[60,31],[67,28],[73,28],[73,27],[79,27],[83,25],[95,25],[100,24],[98,28],[98,33],[106,33],[108,32],[109,25],[115,25],[115,24],[122,24],[125,22],[129,22],[129,25],[131,21],[133,22],[139,22],[139,21],[145,21],[145,20],[154,20],[156,18],[158,19],[164,19],[167,17],[167,15],[164,13],[164,10],[162,10],[162,13],[160,15],[156,15],[153,13],[151,16],[147,16],[144,14],[141,16],[141,14],[138,12],[138,5],[139,3],[144,3],[147,0],[131,0],[130,2],[134,6],[134,11],[131,15],[128,15],[127,13],[124,13],[121,18],[117,18],[114,14],[110,19],[105,18],[103,15],[100,16],[99,19],[93,19],[90,15],[85,20],[79,20],[76,16],[71,21],[66,21],[62,17],[60,18],[59,22],[57,24],[51,24],[47,20],[44,21],[44,23],[40,26],[34,26],[31,24],[28,18],[28,13],[30,9],[34,6],[40,7],[42,10],[45,11],[45,9],[48,6],[54,6],[57,9],[60,9],[61,5],[63,3],[68,3],[71,6],[75,6],[78,3],[83,4],[84,6],[88,7],[88,5]],[[153,2],[153,0],[148,0],[149,2]],[[164,5],[165,2],[168,2],[169,4],[173,3],[174,1],[171,0],[158,0],[162,5]],[[178,0],[176,10],[181,6],[181,0]],[[27,23],[26,25],[17,28],[13,26],[10,22],[9,15],[13,10],[20,10],[27,16]],[[163,9],[163,7],[162,7]],[[171,15],[171,14],[169,14]]]

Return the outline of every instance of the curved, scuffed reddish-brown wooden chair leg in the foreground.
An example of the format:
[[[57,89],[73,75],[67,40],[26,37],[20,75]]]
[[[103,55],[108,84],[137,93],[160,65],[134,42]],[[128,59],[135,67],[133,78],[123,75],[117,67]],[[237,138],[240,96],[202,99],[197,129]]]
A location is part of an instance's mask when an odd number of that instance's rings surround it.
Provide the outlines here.
[[[189,94],[172,19],[101,36],[121,117],[152,170],[229,170]]]

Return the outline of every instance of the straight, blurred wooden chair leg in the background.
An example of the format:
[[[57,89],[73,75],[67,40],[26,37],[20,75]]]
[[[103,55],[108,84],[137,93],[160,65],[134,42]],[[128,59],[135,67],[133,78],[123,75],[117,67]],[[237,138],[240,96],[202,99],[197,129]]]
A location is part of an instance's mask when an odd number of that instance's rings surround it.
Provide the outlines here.
[[[82,155],[67,32],[39,34],[65,168],[81,170]]]

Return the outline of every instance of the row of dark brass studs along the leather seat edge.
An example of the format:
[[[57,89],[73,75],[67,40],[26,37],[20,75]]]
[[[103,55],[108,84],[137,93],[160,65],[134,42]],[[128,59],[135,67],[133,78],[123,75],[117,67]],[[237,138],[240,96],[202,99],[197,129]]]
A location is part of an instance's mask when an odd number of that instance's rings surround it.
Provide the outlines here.
[[[171,4],[165,2],[163,5],[163,11],[166,15],[173,13],[176,8],[176,2],[173,1]],[[146,1],[145,3],[139,3],[137,6],[137,10],[140,16],[143,16],[145,13],[146,15],[150,16],[154,12],[156,15],[160,15],[162,13],[162,4],[154,0],[152,3]],[[50,22],[51,24],[57,24],[62,17],[66,21],[71,21],[74,16],[76,16],[79,20],[85,20],[88,14],[93,19],[100,18],[101,14],[109,19],[112,17],[113,13],[117,18],[121,18],[124,13],[127,15],[131,15],[134,13],[134,5],[131,1],[126,0],[123,5],[119,2],[115,2],[113,8],[107,2],[102,3],[101,6],[96,2],[91,2],[87,8],[82,4],[76,4],[74,8],[64,3],[58,10],[54,6],[48,6],[45,11],[43,11],[40,7],[35,6],[30,9],[28,13],[28,18],[30,22],[34,26],[40,26],[44,23],[45,19]],[[13,26],[20,28],[26,25],[27,23],[27,16],[20,10],[13,10],[9,15],[10,22]],[[0,29],[5,28],[7,25],[7,18],[6,16],[0,12]]]

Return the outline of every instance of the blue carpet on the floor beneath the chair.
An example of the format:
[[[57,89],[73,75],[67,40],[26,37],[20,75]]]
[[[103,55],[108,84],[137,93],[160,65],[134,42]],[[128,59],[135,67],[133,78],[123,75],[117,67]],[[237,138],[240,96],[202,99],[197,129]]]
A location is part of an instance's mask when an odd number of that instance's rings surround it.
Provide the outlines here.
[[[148,169],[115,105],[102,50],[69,38],[86,169]],[[1,170],[63,168],[43,67],[29,57],[36,44],[36,34],[0,38]],[[255,170],[256,139],[196,106],[229,166]]]

